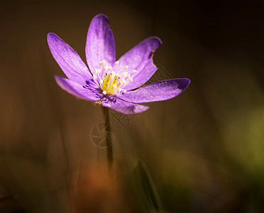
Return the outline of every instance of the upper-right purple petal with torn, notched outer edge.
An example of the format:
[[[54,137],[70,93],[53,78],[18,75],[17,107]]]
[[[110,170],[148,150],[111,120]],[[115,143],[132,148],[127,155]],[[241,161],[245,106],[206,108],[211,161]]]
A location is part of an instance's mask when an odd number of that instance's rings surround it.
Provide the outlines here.
[[[153,76],[157,70],[157,67],[153,64],[153,53],[161,44],[160,38],[147,38],[119,59],[119,65],[115,68],[116,73],[121,74],[123,67],[126,65],[128,65],[128,70],[126,70],[128,74],[132,70],[137,71],[131,74],[133,82],[126,86],[126,90],[140,87]]]

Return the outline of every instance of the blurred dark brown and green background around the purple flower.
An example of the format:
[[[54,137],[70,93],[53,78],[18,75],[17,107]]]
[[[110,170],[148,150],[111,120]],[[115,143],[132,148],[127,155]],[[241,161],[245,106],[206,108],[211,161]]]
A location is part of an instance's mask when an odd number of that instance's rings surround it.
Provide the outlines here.
[[[192,80],[138,116],[111,111],[115,182],[91,140],[101,109],[57,86],[46,41],[86,62],[98,13],[118,58],[157,35],[155,79]],[[6,1],[0,17],[0,212],[264,212],[263,1]]]

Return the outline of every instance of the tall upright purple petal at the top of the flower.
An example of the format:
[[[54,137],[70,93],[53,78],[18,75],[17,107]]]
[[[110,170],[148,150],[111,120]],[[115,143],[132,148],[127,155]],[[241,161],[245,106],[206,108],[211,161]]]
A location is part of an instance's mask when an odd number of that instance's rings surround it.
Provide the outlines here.
[[[89,26],[85,47],[87,64],[91,72],[99,69],[99,62],[106,60],[106,66],[113,66],[116,60],[116,48],[109,18],[103,14],[95,16]]]

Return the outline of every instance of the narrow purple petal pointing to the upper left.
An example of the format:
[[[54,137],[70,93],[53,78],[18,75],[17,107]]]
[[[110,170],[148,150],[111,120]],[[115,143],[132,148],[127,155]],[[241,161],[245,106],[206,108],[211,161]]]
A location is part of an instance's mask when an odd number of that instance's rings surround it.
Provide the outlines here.
[[[48,45],[53,58],[70,80],[84,83],[91,74],[79,55],[55,33],[48,33]]]

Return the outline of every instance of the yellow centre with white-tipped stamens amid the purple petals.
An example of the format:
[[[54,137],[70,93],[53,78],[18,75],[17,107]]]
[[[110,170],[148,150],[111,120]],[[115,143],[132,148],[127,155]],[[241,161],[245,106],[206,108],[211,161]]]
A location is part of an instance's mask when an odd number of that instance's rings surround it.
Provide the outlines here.
[[[119,61],[114,63],[114,67],[105,67],[106,61],[102,60],[99,69],[95,69],[94,82],[101,88],[102,94],[117,94],[121,91],[126,92],[126,85],[129,82],[133,81],[131,75],[136,73],[136,70],[132,70],[131,73],[128,74],[126,70],[128,70],[128,66],[123,67],[121,74],[115,74],[114,69],[119,65]]]

